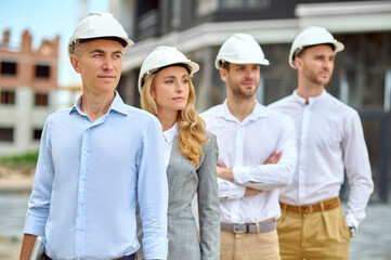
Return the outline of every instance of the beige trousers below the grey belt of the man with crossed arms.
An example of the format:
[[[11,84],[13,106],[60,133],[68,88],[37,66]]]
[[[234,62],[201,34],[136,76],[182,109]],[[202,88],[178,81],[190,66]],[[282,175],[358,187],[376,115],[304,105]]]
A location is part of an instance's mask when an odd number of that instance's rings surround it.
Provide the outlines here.
[[[265,233],[220,233],[221,260],[281,260],[277,231]]]

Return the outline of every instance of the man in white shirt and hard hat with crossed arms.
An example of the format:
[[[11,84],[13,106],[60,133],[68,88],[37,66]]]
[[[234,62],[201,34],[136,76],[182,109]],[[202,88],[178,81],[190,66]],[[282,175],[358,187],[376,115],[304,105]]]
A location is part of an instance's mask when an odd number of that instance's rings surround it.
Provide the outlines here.
[[[229,38],[216,60],[226,101],[201,114],[219,145],[222,260],[281,259],[278,187],[292,181],[296,131],[291,118],[257,102],[260,65],[269,61],[252,36]]]

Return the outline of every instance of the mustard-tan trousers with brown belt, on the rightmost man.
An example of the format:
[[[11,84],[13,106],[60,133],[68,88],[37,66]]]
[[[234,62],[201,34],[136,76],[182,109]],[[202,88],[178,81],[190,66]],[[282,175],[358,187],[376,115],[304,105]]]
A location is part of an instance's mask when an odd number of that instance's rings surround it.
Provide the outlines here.
[[[277,232],[283,260],[349,260],[351,234],[340,207],[311,213],[282,208]]]

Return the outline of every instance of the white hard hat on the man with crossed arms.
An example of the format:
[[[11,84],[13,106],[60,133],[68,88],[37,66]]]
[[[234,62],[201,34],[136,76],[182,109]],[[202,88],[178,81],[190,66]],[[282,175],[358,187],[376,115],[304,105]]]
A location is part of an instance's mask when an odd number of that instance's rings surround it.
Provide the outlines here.
[[[220,69],[224,62],[269,65],[259,43],[247,34],[235,34],[224,41],[216,57],[216,68]]]

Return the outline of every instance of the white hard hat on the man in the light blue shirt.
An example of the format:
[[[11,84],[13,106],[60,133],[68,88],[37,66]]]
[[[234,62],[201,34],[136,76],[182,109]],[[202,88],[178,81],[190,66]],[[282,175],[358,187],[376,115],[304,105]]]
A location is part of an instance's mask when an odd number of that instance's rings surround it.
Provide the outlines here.
[[[74,43],[76,41],[94,38],[118,38],[125,48],[125,52],[134,44],[128,38],[123,27],[113,17],[113,14],[95,12],[90,13],[76,27],[68,42],[68,54],[74,54]]]

